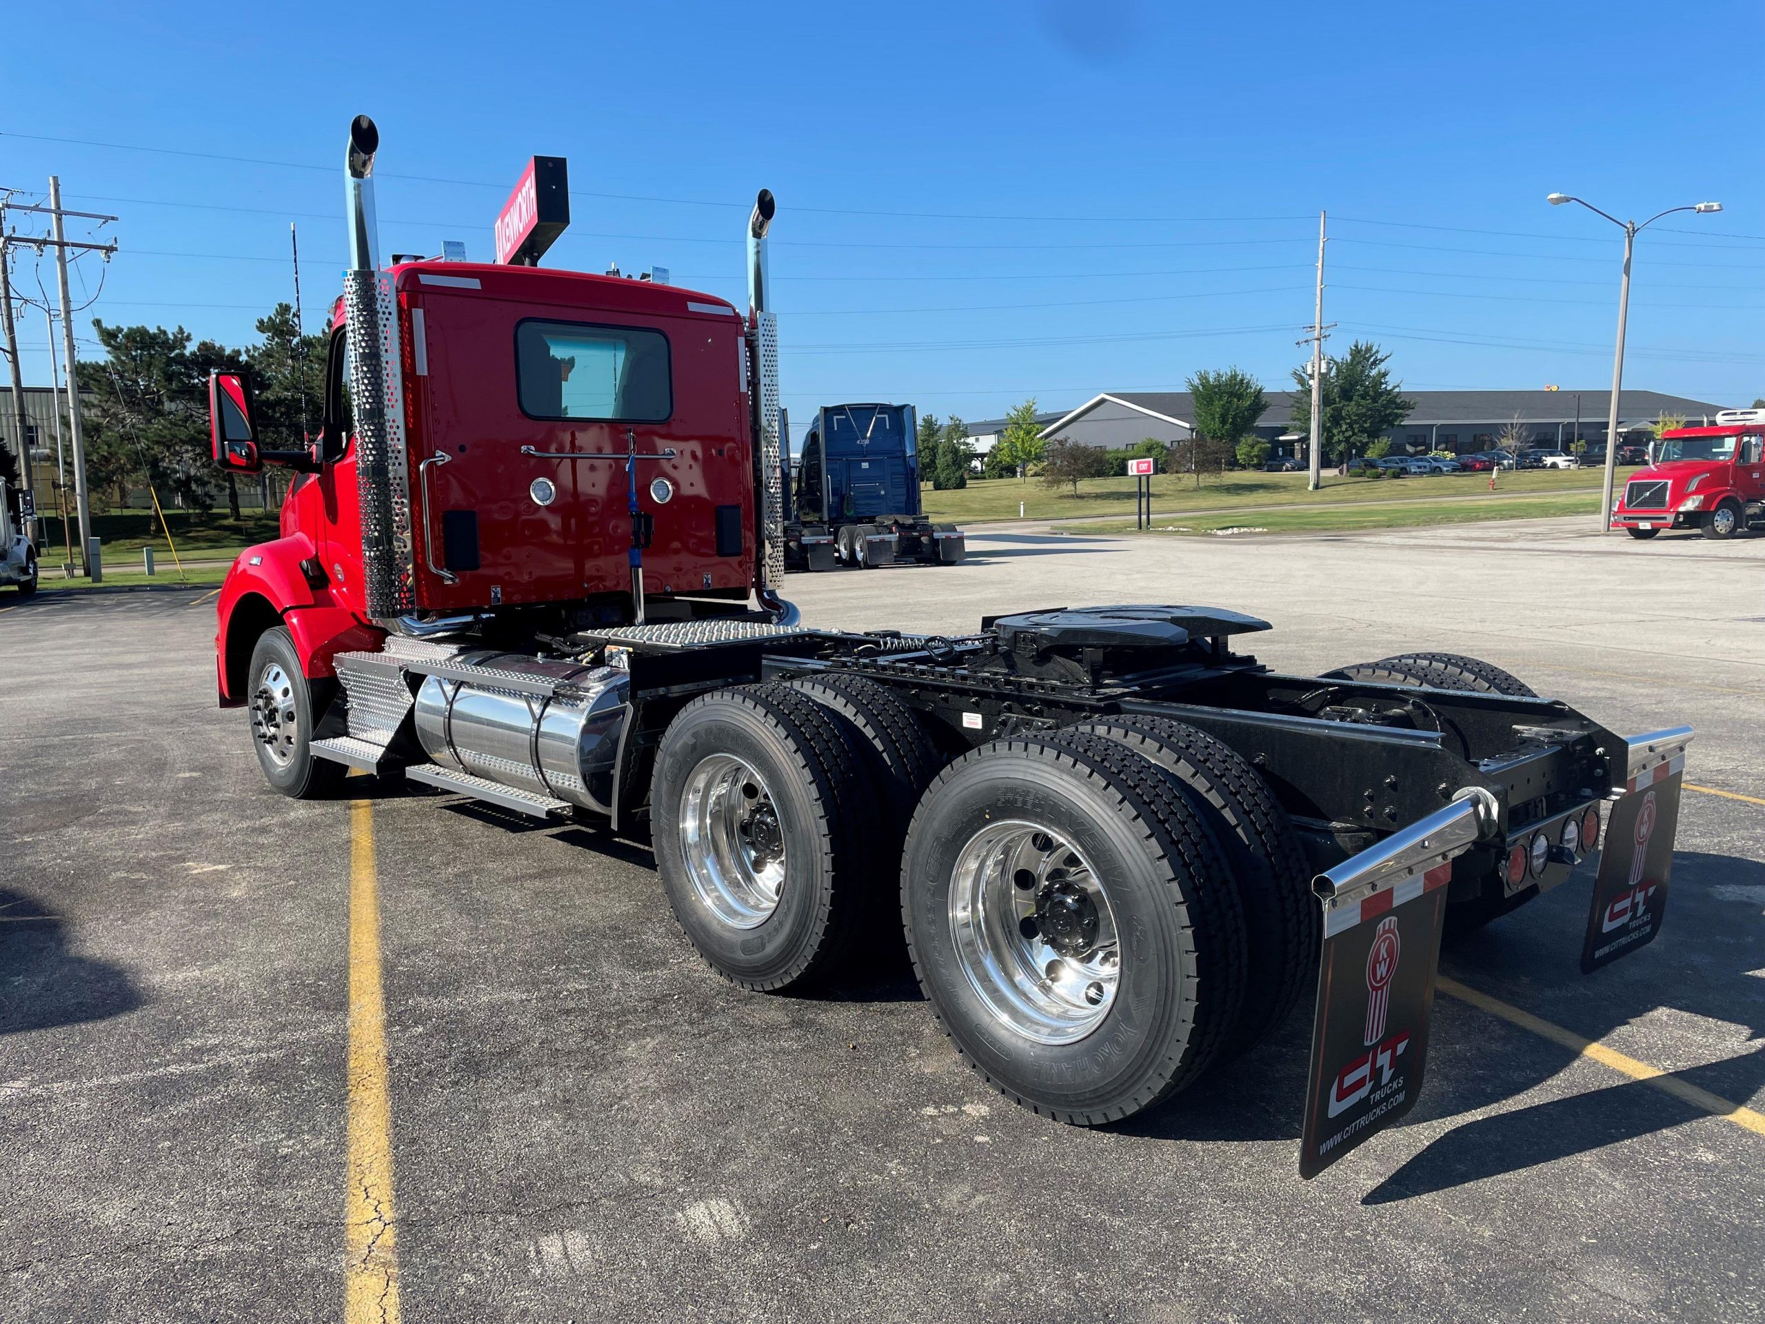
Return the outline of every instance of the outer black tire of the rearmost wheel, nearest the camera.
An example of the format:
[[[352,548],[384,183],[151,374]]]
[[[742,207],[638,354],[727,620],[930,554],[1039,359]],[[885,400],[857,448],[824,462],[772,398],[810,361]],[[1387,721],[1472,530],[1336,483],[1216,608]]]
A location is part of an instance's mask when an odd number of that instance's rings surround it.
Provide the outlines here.
[[[960,948],[958,922],[995,911],[964,906],[957,869],[971,844],[978,860],[990,860],[981,835],[995,831],[1027,842],[1052,833],[1105,884],[1121,936],[1117,983],[1073,1038],[1022,1029],[999,1010],[997,985],[992,1001],[981,992],[983,966]],[[1048,860],[1064,867],[1071,858],[1063,849],[1054,846]],[[1244,916],[1225,861],[1183,784],[1114,740],[1034,734],[957,759],[920,801],[900,876],[914,973],[944,1034],[994,1087],[1034,1112],[1078,1126],[1130,1117],[1193,1084],[1237,1024]],[[1045,877],[1052,884],[1054,872]],[[987,932],[1022,932],[999,914]],[[1001,969],[1020,971],[1029,989],[1050,987],[1024,962]]]

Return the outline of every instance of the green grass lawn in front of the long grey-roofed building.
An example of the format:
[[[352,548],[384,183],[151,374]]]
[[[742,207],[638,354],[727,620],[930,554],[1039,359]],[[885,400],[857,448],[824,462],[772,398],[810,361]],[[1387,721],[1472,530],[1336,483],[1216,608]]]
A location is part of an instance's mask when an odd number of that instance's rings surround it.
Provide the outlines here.
[[[1633,470],[1620,470],[1619,482]],[[1497,478],[1502,494],[1550,494],[1599,491],[1599,470],[1527,470]],[[1338,505],[1356,501],[1416,501],[1417,498],[1490,500],[1488,473],[1442,473],[1430,478],[1338,478],[1324,475],[1324,487],[1306,491],[1303,473],[1228,473],[1209,478],[1200,489],[1190,475],[1161,473],[1153,478],[1153,510],[1214,510],[1223,507]],[[1070,487],[1054,491],[1040,478],[980,478],[958,491],[925,489],[925,512],[957,524],[987,519],[1017,519],[1024,501],[1027,519],[1071,519],[1084,515],[1133,514],[1133,478],[1085,478],[1078,496]],[[1597,498],[1596,498],[1597,500]],[[1481,519],[1483,515],[1465,515]],[[1267,523],[1267,521],[1257,521]]]

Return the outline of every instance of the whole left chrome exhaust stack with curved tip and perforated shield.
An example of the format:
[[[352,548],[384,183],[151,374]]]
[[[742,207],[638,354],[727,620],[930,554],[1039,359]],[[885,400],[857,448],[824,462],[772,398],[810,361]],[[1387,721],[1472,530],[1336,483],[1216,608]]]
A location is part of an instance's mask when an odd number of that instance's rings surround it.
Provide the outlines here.
[[[399,616],[417,607],[417,575],[404,454],[399,314],[392,279],[379,272],[379,233],[374,221],[378,150],[379,129],[365,115],[357,115],[349,124],[344,154],[344,219],[349,226],[344,314],[355,413],[355,480],[362,508],[367,614],[392,628]]]

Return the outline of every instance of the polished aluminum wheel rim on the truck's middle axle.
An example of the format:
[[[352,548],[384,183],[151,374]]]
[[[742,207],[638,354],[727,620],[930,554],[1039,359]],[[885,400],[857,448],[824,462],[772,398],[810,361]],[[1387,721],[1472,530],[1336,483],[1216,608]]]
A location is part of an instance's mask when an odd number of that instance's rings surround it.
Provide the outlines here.
[[[724,923],[754,929],[778,909],[784,828],[766,782],[741,759],[713,754],[687,777],[680,847],[694,891]]]

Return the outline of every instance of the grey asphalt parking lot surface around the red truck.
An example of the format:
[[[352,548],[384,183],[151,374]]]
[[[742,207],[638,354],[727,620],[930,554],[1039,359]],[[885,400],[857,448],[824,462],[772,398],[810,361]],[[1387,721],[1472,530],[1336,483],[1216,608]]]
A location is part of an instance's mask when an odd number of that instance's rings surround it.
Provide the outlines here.
[[[641,844],[374,779],[270,793],[214,706],[210,593],[0,597],[0,1319],[344,1315],[364,872],[372,1253],[409,1320],[1765,1317],[1765,538],[1583,524],[1025,526],[791,581],[863,628],[1227,606],[1281,669],[1446,648],[1620,731],[1698,727],[1659,941],[1583,978],[1578,877],[1449,950],[1419,1105],[1313,1183],[1304,1010],[1151,1119],[1063,1128],[904,973],[720,982]]]

